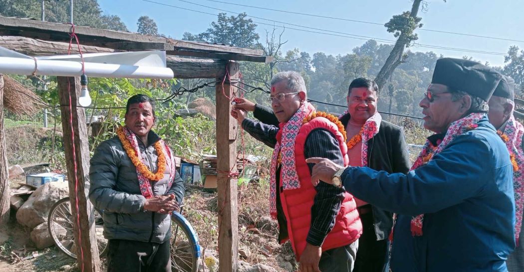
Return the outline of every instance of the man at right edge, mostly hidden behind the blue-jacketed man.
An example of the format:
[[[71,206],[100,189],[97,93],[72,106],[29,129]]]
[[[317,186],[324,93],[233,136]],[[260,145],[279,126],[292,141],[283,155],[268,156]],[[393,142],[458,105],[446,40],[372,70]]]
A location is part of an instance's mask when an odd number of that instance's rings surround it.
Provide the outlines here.
[[[522,212],[524,210],[524,152],[522,137],[524,127],[513,116],[515,107],[515,80],[504,76],[492,98],[489,99],[488,119],[506,143],[513,166],[513,188],[515,190],[515,240],[517,248],[508,256],[506,265],[509,272],[524,271],[524,245],[521,238]]]

